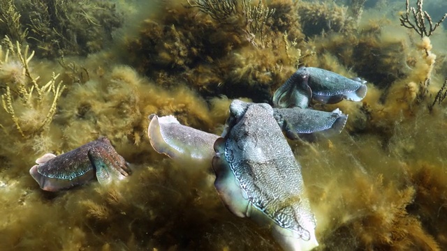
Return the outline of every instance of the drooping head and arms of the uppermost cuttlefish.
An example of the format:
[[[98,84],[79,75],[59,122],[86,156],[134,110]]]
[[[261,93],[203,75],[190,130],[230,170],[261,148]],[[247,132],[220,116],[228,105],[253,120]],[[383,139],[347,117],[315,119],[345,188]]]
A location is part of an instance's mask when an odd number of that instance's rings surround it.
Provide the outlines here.
[[[274,92],[272,102],[275,107],[307,108],[312,98],[312,90],[308,84],[309,73],[302,71],[293,73],[277,91]]]

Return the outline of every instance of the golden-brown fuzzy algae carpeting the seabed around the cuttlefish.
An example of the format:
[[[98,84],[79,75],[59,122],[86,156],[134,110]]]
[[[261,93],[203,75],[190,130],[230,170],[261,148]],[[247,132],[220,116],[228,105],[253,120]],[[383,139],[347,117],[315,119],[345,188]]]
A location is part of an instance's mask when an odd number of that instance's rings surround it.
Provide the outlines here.
[[[117,1],[127,22],[106,50],[63,63],[31,60],[41,82],[56,71],[67,89],[52,123],[37,134],[22,137],[0,111],[1,250],[277,250],[268,229],[221,204],[209,167],[176,163],[152,149],[147,115],[174,114],[219,134],[229,98],[265,100],[298,64],[370,82],[360,103],[315,105],[349,114],[342,134],[290,142],[316,214],[317,250],[447,248],[446,105],[427,109],[446,77],[441,27],[420,40],[393,11],[365,9],[353,24],[347,8],[334,3],[272,0],[265,4],[276,14],[261,44],[240,16],[217,22],[185,1],[154,3]],[[402,1],[389,4],[404,10]],[[6,84],[25,81],[21,70],[2,66],[1,94]],[[47,107],[14,102],[32,132]],[[52,194],[29,176],[43,153],[99,135],[133,164],[125,181]]]

